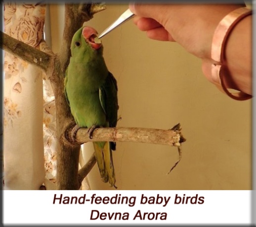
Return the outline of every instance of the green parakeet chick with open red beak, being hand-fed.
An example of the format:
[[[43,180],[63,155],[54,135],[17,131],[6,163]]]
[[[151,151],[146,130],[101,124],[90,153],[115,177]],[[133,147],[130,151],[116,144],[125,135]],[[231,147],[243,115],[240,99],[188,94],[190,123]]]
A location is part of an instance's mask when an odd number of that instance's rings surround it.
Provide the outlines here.
[[[78,127],[95,128],[117,125],[117,81],[108,71],[103,46],[95,43],[97,32],[82,27],[73,36],[71,58],[65,77],[65,95]],[[115,187],[112,150],[114,142],[93,142],[101,178]]]

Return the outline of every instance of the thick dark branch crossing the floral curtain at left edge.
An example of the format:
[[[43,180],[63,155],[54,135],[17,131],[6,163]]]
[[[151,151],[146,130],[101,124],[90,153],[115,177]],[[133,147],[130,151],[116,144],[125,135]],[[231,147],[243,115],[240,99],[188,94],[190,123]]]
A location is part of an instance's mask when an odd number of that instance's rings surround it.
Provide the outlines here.
[[[51,56],[0,31],[0,47],[24,61],[48,69]]]

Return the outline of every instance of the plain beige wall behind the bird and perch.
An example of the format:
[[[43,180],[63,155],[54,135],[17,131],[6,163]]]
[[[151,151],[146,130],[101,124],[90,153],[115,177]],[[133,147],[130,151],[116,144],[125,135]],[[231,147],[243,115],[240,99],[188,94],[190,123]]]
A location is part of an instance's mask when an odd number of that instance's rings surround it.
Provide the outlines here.
[[[87,25],[102,32],[127,8],[107,4]],[[62,38],[63,9],[51,6],[51,16],[60,18],[52,17],[55,51]],[[182,160],[169,175],[178,159],[175,147],[117,143],[113,159],[118,189],[251,189],[251,101],[223,95],[204,77],[200,59],[176,43],[148,39],[132,21],[102,42],[109,71],[118,81],[118,127],[170,129],[179,122],[187,139]],[[85,157],[91,152],[92,145],[85,144]],[[88,179],[91,189],[112,189],[101,182],[97,166]]]

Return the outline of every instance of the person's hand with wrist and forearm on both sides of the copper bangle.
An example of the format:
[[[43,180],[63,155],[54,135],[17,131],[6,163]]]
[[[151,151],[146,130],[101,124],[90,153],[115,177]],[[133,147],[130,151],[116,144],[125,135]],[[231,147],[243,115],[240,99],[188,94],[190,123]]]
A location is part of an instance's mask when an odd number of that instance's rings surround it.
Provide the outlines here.
[[[203,73],[212,83],[218,83],[213,81],[211,71],[212,64],[215,63],[211,59],[213,33],[224,16],[244,6],[244,4],[129,4],[130,10],[136,15],[133,19],[134,23],[141,31],[145,31],[151,39],[175,41],[189,53],[201,58]],[[243,30],[247,28],[248,26]],[[243,40],[248,40],[246,32],[244,36]],[[250,47],[245,49],[244,46],[247,44],[244,42],[240,50],[233,52],[234,46],[241,44],[241,37],[237,39],[234,36],[232,39],[235,41],[230,41],[232,45],[228,44],[226,49],[228,56],[226,64],[233,78],[226,78],[225,84],[228,88],[240,89],[250,94],[251,68],[246,63],[250,62],[250,58],[243,60],[237,53],[241,51],[248,53],[251,49]],[[234,61],[233,56],[237,56]],[[240,67],[240,65],[245,66]],[[246,72],[245,69],[247,69]],[[242,83],[241,78],[246,82]]]

